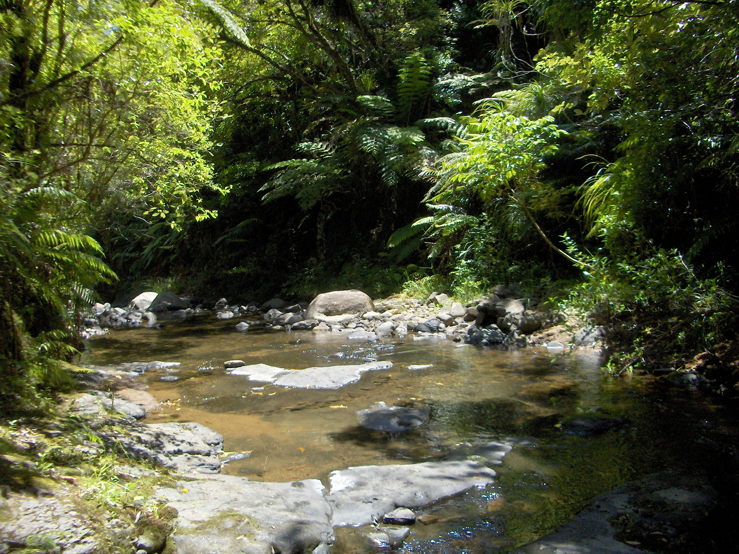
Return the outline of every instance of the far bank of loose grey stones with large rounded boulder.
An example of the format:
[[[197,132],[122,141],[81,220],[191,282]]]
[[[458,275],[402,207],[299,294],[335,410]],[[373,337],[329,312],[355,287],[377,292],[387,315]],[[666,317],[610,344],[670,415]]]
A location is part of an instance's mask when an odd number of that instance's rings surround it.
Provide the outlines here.
[[[174,293],[141,293],[126,307],[95,304],[84,317],[86,336],[127,326],[160,326],[163,321],[212,313],[219,320],[240,320],[239,332],[255,330],[346,332],[350,339],[372,339],[413,334],[437,336],[480,346],[550,349],[597,347],[605,336],[602,326],[568,319],[543,310],[537,298],[522,298],[515,287],[497,285],[486,298],[462,304],[445,293],[428,298],[390,297],[372,301],[359,290],[324,293],[309,303],[288,304],[272,298],[261,306],[235,304],[226,298],[195,304]]]

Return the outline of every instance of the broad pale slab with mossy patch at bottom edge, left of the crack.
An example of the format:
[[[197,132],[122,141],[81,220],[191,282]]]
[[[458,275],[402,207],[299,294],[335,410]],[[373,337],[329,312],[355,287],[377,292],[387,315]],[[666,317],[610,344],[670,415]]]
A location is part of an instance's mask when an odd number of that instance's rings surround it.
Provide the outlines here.
[[[218,475],[157,488],[155,495],[177,509],[180,554],[327,552],[334,540],[318,479],[265,483]]]

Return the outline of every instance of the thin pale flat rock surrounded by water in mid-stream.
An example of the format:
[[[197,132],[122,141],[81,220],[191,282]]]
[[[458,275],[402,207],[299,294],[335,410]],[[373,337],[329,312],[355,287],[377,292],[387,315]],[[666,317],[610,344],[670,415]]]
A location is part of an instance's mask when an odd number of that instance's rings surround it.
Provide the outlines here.
[[[390,369],[392,362],[369,362],[347,366],[309,367],[307,369],[284,369],[257,363],[234,369],[231,375],[245,375],[250,381],[273,383],[296,389],[340,389],[344,385],[361,379],[364,372]]]

